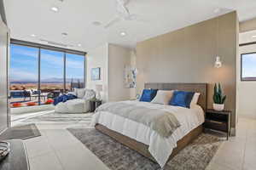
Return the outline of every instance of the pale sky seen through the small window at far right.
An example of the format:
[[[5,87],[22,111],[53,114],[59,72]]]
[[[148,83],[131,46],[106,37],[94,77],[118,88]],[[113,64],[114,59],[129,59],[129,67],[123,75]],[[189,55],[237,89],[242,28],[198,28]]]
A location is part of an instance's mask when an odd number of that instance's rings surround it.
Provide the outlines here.
[[[256,54],[242,55],[242,77],[256,77]]]

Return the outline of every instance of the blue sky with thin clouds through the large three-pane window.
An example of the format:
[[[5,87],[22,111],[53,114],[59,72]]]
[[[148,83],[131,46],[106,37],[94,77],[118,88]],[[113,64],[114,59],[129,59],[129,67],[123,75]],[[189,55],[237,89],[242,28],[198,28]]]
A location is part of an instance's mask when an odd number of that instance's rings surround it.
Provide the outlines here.
[[[38,81],[38,48],[11,44],[11,81]],[[67,79],[84,77],[84,56],[66,54]],[[41,81],[63,79],[64,53],[41,49]]]

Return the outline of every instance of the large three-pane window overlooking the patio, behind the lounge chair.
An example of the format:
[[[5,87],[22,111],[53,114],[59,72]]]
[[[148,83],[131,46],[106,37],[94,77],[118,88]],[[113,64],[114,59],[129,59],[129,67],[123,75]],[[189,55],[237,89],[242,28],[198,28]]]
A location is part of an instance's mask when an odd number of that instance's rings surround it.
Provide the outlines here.
[[[55,97],[84,88],[85,54],[11,44],[11,107],[49,105]]]

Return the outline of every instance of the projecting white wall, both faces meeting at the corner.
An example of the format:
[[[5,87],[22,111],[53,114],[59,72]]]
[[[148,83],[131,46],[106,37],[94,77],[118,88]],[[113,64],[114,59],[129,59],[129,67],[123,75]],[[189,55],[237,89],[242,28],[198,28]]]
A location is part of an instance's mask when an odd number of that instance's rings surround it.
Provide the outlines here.
[[[131,99],[131,96],[134,98],[135,89],[124,88],[125,65],[135,66],[136,64],[136,55],[130,48],[107,43],[90,49],[86,59],[87,88],[95,89],[96,84],[102,84],[103,102]],[[96,67],[101,67],[101,80],[92,81],[90,71]]]

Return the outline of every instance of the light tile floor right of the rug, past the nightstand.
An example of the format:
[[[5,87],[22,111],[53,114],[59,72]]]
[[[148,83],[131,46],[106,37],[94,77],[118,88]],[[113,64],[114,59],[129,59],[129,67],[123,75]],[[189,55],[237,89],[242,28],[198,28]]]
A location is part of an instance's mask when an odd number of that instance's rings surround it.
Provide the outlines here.
[[[207,170],[256,170],[256,120],[239,118],[236,137],[225,141]]]

